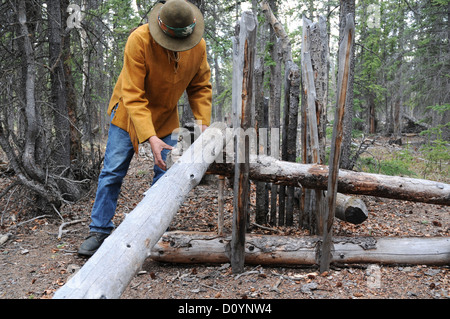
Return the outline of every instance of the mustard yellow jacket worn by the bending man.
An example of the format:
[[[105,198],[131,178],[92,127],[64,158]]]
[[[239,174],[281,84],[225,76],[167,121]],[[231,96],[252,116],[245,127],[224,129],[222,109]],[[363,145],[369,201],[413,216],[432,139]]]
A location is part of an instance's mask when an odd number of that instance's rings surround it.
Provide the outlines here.
[[[108,114],[118,104],[112,124],[129,133],[136,152],[151,136],[164,137],[179,127],[177,103],[185,90],[195,119],[210,125],[211,70],[205,40],[178,54],[175,62],[173,52],[153,40],[148,24],[128,38]]]

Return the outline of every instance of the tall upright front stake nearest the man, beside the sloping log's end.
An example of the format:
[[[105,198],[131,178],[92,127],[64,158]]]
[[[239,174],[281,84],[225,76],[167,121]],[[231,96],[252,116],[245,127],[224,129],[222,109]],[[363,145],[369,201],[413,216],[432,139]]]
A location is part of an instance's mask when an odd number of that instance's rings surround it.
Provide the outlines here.
[[[250,180],[250,141],[245,130],[251,127],[253,101],[253,69],[256,47],[256,17],[244,12],[238,23],[233,54],[233,128],[235,136],[235,172],[231,268],[234,273],[244,270],[245,232],[248,217]]]

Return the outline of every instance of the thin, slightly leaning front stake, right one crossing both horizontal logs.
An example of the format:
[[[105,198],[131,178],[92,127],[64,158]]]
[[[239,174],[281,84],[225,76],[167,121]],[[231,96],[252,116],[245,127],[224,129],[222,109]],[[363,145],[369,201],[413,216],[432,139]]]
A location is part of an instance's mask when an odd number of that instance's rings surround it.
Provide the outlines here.
[[[330,268],[332,251],[332,232],[334,211],[336,208],[337,181],[339,173],[339,162],[341,156],[341,144],[343,136],[343,120],[345,111],[345,98],[347,96],[348,79],[350,74],[350,54],[352,52],[355,24],[353,15],[346,17],[345,35],[339,46],[339,72],[338,92],[334,115],[333,138],[331,141],[331,152],[329,160],[328,191],[327,191],[327,218],[323,225],[323,242],[320,256],[320,271],[324,272]]]

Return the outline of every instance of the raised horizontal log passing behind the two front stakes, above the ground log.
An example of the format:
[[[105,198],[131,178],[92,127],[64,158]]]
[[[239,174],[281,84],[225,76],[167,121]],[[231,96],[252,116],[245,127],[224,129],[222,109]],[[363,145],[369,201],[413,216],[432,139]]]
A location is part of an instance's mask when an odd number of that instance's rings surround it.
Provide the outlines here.
[[[213,163],[208,174],[232,176],[232,163]],[[266,155],[250,157],[250,179],[277,185],[326,190],[328,166],[276,160]],[[450,185],[424,179],[339,170],[337,191],[342,194],[423,202],[450,206]]]

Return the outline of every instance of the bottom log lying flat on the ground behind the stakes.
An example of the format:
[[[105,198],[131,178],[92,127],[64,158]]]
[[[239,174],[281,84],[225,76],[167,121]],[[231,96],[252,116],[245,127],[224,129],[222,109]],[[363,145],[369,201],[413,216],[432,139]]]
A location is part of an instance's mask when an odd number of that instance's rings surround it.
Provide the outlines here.
[[[170,263],[227,263],[231,236],[215,233],[167,232],[151,258]],[[247,234],[245,263],[270,266],[318,265],[321,236]],[[332,263],[448,265],[449,237],[333,237]]]

